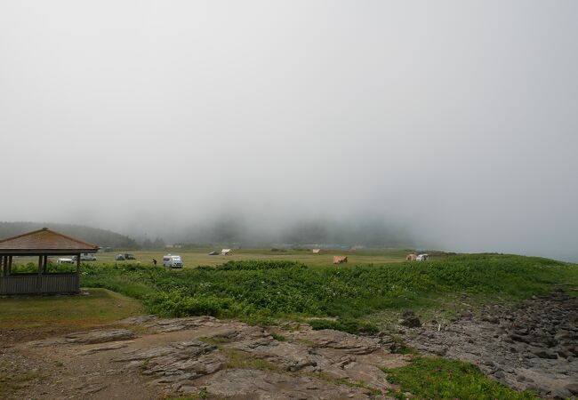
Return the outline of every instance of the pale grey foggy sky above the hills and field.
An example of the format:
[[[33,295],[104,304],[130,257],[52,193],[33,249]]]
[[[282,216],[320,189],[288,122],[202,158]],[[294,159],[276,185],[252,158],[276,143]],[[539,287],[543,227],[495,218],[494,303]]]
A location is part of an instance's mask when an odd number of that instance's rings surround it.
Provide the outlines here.
[[[578,260],[578,3],[5,1],[0,220]]]

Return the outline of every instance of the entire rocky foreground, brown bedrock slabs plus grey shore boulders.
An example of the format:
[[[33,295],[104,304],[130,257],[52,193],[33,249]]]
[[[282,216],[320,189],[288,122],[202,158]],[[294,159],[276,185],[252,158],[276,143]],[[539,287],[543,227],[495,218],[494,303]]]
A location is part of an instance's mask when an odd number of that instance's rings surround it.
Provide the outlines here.
[[[397,388],[380,367],[407,364],[411,356],[394,354],[401,336],[511,388],[578,398],[578,298],[564,292],[449,324],[422,325],[411,312],[400,323],[391,335],[360,337],[307,324],[265,330],[209,316],[139,316],[118,329],[3,343],[0,372],[25,378],[10,394],[18,399],[389,398]]]

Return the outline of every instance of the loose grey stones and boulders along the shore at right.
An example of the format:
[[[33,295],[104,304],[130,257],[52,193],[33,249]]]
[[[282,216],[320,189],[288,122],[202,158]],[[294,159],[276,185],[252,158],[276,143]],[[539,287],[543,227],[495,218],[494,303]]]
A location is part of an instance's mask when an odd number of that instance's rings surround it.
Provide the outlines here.
[[[545,397],[578,396],[578,298],[564,292],[533,297],[517,308],[494,305],[451,324],[416,326],[405,316],[399,332],[421,353],[477,364],[489,377]]]

